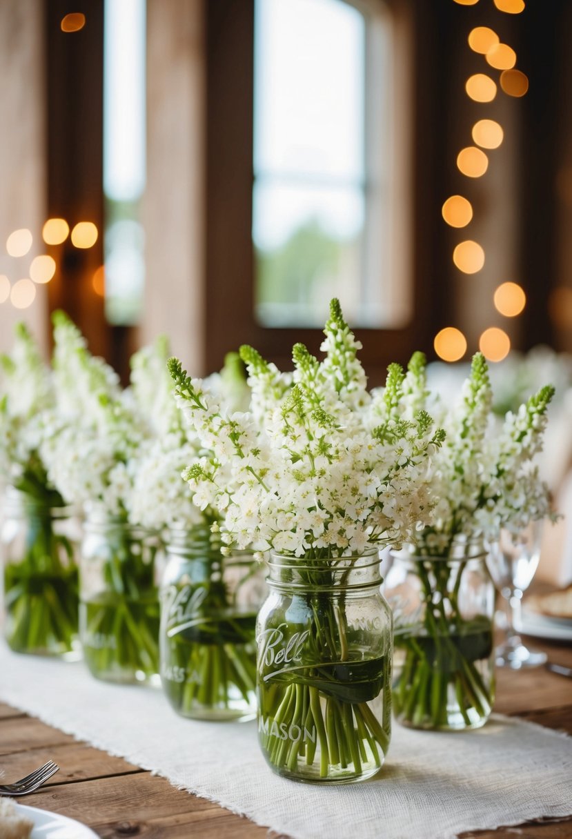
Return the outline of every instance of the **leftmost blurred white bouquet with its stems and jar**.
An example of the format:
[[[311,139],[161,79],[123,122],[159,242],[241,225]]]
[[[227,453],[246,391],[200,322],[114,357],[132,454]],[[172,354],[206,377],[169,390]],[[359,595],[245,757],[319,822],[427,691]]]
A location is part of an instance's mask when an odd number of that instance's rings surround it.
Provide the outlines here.
[[[70,655],[78,602],[73,526],[40,453],[39,418],[55,405],[53,378],[23,324],[0,363],[4,632],[18,652]]]

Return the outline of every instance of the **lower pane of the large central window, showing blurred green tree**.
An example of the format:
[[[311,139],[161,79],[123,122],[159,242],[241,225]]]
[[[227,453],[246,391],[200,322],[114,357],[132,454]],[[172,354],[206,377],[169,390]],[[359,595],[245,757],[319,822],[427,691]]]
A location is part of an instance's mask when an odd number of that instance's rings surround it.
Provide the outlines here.
[[[321,326],[339,297],[352,321],[370,322],[364,275],[365,199],[356,187],[258,182],[254,189],[257,315],[268,326]]]

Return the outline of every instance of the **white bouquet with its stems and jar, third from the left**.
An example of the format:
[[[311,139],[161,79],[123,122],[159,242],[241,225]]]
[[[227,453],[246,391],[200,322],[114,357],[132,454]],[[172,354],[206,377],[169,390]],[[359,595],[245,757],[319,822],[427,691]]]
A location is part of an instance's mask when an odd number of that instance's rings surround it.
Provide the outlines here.
[[[208,452],[184,427],[166,358],[154,376],[151,360],[148,351],[134,358],[132,382],[136,399],[141,401],[149,390],[149,401],[160,406],[154,421],[159,437],[135,466],[130,519],[164,531],[167,562],[159,633],[163,690],[184,717],[252,717],[254,627],[264,592],[261,570],[252,552],[223,555],[216,499],[199,508],[195,492],[182,480],[184,469],[200,463]],[[221,373],[205,381],[208,392],[231,411],[248,393],[241,367],[236,354],[229,355]]]

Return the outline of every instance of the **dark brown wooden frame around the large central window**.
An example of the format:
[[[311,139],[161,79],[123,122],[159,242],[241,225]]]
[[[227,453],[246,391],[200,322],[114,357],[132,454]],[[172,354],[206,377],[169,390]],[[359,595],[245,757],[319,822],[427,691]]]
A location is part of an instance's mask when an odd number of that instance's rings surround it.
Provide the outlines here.
[[[356,0],[358,8],[372,8],[377,0]],[[383,3],[393,21],[394,102],[415,102],[411,9],[408,0]],[[414,5],[414,4],[413,4]],[[319,352],[320,329],[265,327],[254,313],[254,255],[252,243],[252,143],[254,2],[217,0],[206,8],[206,232],[205,326],[207,369],[220,367],[226,352],[249,343],[279,366],[291,366],[291,347],[302,341]],[[411,317],[392,329],[356,330],[364,344],[361,358],[372,378],[384,378],[387,363],[407,361],[424,343],[424,314],[428,303],[424,284],[414,270],[413,172],[416,143],[413,114],[394,108],[394,185],[390,201],[399,221],[392,270],[398,282],[408,282]],[[228,142],[229,138],[232,142]],[[327,312],[325,311],[325,315]]]

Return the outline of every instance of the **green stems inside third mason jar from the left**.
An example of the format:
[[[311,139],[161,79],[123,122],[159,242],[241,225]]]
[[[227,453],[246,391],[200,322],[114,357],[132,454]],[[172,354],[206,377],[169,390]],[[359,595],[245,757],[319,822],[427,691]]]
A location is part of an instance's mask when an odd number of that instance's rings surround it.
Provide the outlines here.
[[[240,604],[241,586],[259,571],[251,559],[231,591],[226,562],[195,559],[183,581],[162,592],[161,679],[184,717],[231,719],[256,713],[257,609]]]

